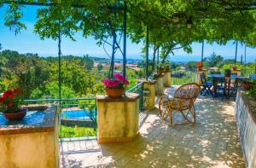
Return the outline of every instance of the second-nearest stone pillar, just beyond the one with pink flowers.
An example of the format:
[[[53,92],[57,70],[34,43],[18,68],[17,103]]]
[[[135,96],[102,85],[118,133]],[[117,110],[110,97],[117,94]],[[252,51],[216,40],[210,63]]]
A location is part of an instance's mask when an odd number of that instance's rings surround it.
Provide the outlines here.
[[[148,80],[144,82],[144,89],[149,91],[148,95],[148,107],[147,110],[154,109],[154,101],[155,101],[155,80]]]

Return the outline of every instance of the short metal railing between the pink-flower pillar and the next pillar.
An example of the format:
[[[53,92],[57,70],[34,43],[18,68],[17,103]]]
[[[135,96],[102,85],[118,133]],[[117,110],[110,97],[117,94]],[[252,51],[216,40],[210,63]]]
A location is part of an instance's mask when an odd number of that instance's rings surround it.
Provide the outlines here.
[[[133,86],[130,90],[127,90],[127,92],[130,92],[130,93],[137,93],[139,94],[139,110],[140,112],[142,112],[145,108],[144,108],[144,104],[145,104],[145,99],[146,97],[143,96],[144,93],[143,93],[143,82],[139,82],[138,84],[136,84],[135,86]]]

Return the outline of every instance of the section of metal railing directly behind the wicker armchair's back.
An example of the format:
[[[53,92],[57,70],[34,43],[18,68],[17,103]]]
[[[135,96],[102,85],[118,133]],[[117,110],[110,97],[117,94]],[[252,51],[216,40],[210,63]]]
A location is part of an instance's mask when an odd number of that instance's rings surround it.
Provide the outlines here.
[[[196,69],[172,69],[172,85],[182,85],[196,82]]]

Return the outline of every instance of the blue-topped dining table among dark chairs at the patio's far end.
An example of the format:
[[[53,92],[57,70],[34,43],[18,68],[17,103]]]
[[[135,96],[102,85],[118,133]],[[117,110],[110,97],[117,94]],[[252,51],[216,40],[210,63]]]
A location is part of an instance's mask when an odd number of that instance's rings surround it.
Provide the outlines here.
[[[226,79],[226,83],[224,84],[225,90],[224,90],[224,96],[227,98],[230,98],[230,85],[231,85],[231,80],[238,80],[238,81],[243,81],[247,80],[247,77],[242,76],[242,75],[236,75],[236,74],[231,74],[230,77],[226,77],[224,73],[212,73],[208,74],[208,78],[223,78]]]

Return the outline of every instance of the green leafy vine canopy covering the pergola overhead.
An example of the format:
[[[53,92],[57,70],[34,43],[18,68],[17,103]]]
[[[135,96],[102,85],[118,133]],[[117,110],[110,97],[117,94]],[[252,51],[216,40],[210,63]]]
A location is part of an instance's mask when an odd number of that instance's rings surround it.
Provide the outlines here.
[[[149,43],[163,49],[162,56],[172,49],[207,40],[225,44],[230,40],[256,46],[256,10],[253,0],[24,0],[3,1],[9,4],[5,25],[20,32],[24,5],[39,5],[34,32],[41,38],[61,35],[75,40],[76,32],[84,38],[93,36],[106,43],[114,33],[123,32],[124,9],[127,11],[127,33],[133,42],[141,42],[149,29]]]

